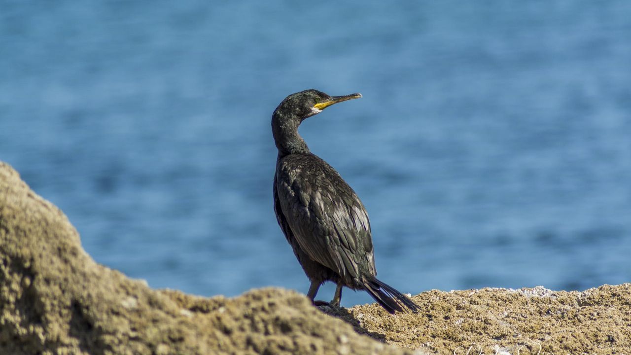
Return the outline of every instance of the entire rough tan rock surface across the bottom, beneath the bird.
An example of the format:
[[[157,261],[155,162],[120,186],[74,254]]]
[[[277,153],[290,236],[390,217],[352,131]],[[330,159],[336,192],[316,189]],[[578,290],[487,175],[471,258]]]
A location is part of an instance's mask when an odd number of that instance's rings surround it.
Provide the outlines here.
[[[391,316],[318,310],[283,289],[153,290],[95,263],[66,216],[0,162],[0,354],[631,354],[631,284],[413,299],[422,312]]]

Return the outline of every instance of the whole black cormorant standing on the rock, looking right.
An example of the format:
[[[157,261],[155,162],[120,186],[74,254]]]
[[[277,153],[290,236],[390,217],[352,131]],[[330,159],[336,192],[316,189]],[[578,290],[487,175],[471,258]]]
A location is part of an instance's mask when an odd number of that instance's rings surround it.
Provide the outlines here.
[[[389,313],[405,308],[416,312],[419,308],[410,298],[375,277],[370,221],[355,191],[298,135],[305,118],[360,97],[359,93],[331,97],[311,89],[289,95],[276,107],[274,212],[311,281],[307,296],[312,301],[323,282],[333,281],[338,287],[331,306],[339,306],[346,286],[367,291]]]

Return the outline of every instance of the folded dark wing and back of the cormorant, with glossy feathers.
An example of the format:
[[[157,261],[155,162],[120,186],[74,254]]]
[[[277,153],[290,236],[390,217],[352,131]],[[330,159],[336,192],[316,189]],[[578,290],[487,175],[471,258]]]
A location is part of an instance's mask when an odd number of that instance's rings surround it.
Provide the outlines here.
[[[276,192],[286,224],[312,260],[345,280],[376,274],[366,210],[324,160],[286,157],[276,170]]]

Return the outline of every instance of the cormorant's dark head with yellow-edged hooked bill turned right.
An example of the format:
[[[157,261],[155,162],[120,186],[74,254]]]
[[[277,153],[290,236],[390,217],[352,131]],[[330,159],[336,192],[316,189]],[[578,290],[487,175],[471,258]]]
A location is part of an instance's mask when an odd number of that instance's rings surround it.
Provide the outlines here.
[[[274,116],[278,115],[285,119],[298,119],[298,123],[305,118],[319,114],[330,105],[337,104],[351,99],[359,99],[361,93],[351,93],[350,95],[331,96],[327,93],[309,89],[297,93],[292,93],[276,107]]]

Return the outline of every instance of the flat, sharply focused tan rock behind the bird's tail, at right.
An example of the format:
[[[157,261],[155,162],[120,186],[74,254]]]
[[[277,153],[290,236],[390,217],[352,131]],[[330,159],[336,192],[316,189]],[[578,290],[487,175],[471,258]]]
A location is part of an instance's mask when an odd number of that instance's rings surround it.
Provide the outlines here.
[[[487,288],[413,296],[423,310],[327,310],[387,344],[433,354],[629,354],[631,284],[583,292]]]

